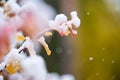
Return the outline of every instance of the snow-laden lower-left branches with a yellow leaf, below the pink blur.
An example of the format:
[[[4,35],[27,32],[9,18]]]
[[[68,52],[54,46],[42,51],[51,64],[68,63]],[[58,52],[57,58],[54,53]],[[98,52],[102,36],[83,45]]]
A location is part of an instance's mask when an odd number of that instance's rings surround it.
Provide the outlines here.
[[[32,40],[26,37],[20,48],[11,49],[6,55],[0,70],[9,74],[9,80],[75,80],[70,74],[48,73],[44,59],[35,53],[33,47]],[[24,49],[28,49],[30,56],[25,55]]]

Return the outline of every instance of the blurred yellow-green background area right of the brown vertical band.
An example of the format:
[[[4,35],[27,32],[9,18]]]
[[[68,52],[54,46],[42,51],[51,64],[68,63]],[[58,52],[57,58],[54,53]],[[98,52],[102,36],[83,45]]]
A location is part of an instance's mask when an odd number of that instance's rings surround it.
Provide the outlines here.
[[[76,80],[120,80],[120,12],[109,10],[104,0],[78,2],[81,26],[72,42]]]

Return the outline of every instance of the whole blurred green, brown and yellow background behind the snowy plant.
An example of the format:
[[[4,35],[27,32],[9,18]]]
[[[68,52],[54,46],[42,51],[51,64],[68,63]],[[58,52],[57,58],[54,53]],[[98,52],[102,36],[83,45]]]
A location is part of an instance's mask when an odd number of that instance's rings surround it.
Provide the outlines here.
[[[120,80],[120,0],[45,0],[68,17],[78,12],[76,37],[55,32],[44,56],[49,72],[73,74],[76,80]],[[70,18],[70,17],[69,17]]]

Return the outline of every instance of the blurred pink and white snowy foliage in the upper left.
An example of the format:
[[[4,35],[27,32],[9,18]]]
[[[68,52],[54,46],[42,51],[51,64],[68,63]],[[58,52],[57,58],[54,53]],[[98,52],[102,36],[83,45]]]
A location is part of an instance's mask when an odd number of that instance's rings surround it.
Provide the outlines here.
[[[47,27],[49,19],[55,15],[54,9],[38,0],[0,1],[0,56],[4,56],[15,42],[15,34],[21,30],[33,38]],[[40,4],[38,4],[40,3]],[[32,7],[31,7],[32,6]],[[48,14],[49,13],[49,14]]]

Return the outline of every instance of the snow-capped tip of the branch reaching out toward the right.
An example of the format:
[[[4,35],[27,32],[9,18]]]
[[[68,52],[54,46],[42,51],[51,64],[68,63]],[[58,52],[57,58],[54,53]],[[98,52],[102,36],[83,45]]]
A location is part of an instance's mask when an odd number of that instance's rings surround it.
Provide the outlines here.
[[[80,26],[80,19],[77,16],[77,12],[71,12],[71,20],[67,20],[64,14],[59,14],[55,17],[55,20],[49,21],[49,27],[60,33],[61,36],[67,36],[72,33],[73,36],[77,34],[77,31],[73,28]]]

